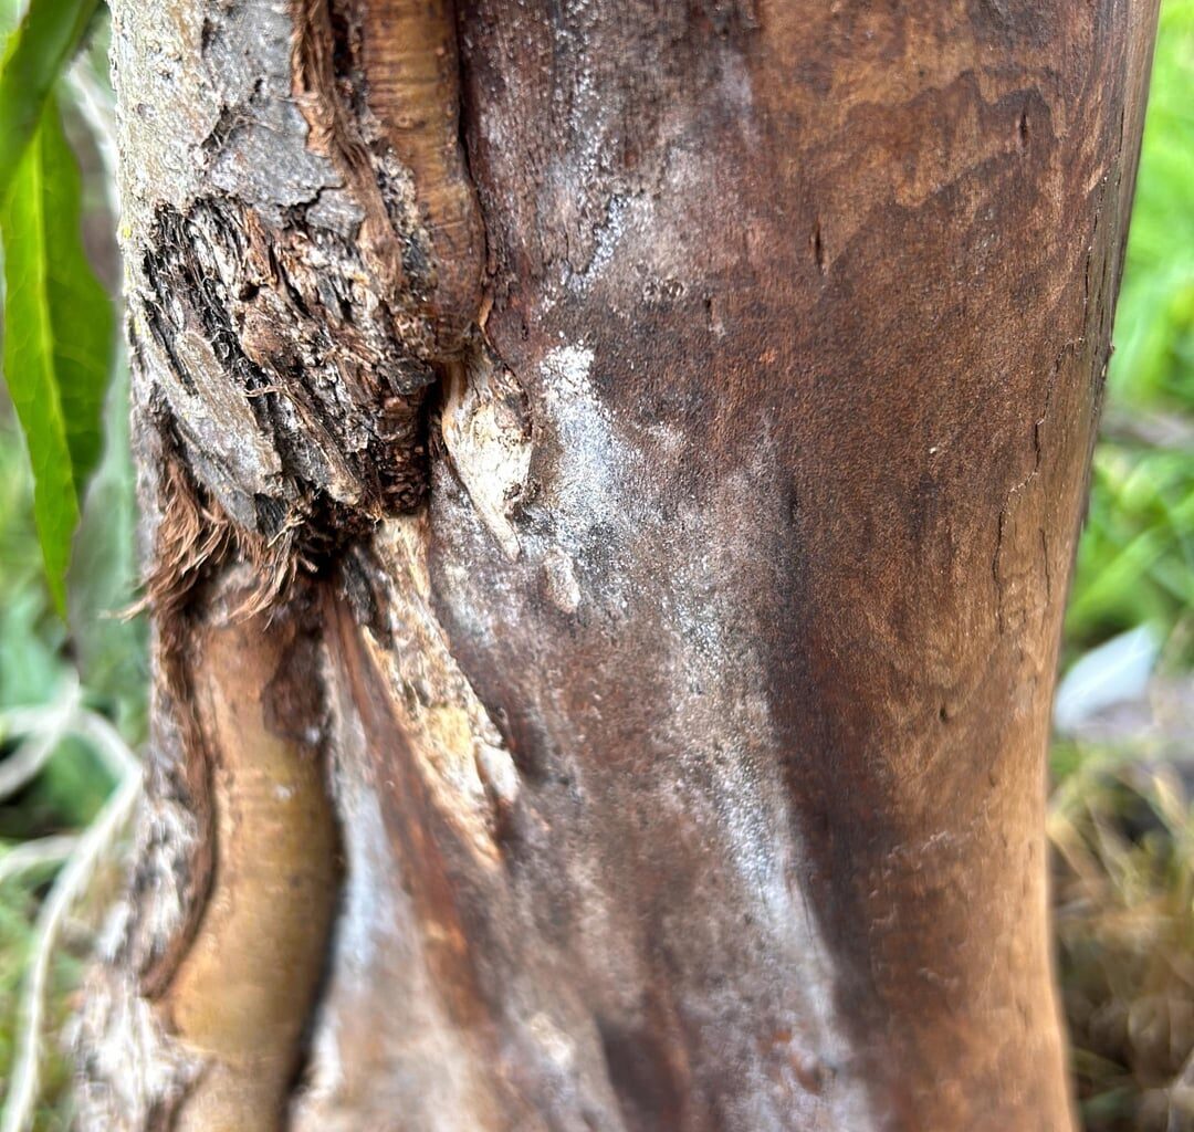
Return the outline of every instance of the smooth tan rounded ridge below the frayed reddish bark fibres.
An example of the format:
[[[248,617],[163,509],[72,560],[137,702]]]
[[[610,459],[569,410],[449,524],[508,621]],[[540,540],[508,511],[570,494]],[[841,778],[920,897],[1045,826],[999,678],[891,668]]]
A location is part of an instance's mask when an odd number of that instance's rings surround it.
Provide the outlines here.
[[[315,644],[260,616],[197,627],[192,685],[213,759],[217,847],[195,939],[165,993],[204,1062],[179,1132],[281,1124],[324,970],[337,833],[319,743]]]

